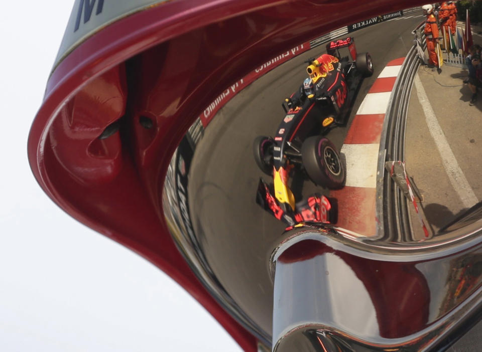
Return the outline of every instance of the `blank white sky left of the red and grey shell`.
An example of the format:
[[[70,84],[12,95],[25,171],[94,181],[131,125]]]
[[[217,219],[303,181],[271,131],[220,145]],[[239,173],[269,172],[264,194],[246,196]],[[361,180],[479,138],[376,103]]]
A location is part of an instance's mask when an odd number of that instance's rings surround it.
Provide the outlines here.
[[[27,137],[72,4],[2,4],[0,351],[239,351],[184,289],[74,221],[32,175]]]

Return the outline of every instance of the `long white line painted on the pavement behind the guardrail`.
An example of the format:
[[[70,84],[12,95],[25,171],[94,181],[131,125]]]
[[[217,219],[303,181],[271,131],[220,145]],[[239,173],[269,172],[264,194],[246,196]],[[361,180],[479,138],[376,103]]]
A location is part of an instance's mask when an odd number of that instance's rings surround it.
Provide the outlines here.
[[[457,159],[455,158],[447,139],[445,138],[445,134],[443,133],[442,128],[437,121],[437,117],[433,112],[432,105],[430,105],[418,73],[415,76],[414,82],[415,87],[417,88],[418,100],[420,101],[420,104],[423,108],[423,113],[425,114],[425,121],[427,122],[430,134],[432,135],[438,152],[442,158],[443,167],[448,175],[448,179],[450,180],[455,192],[457,192],[457,195],[462,201],[463,206],[470,208],[474,204],[478,203],[478,199],[468,184],[468,181],[465,178],[462,169],[458,165]]]

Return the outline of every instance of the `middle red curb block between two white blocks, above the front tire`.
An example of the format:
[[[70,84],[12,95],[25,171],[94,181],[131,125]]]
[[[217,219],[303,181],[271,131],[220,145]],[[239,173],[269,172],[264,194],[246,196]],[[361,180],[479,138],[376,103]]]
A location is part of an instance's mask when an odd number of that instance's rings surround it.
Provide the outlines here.
[[[380,143],[385,114],[355,115],[344,144]]]

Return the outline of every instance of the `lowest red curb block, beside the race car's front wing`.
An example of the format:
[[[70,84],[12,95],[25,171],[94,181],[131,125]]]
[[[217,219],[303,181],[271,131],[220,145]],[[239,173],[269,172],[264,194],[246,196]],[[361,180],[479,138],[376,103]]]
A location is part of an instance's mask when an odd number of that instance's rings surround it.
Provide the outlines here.
[[[330,191],[338,199],[336,226],[364,236],[376,235],[375,188],[344,187]]]

